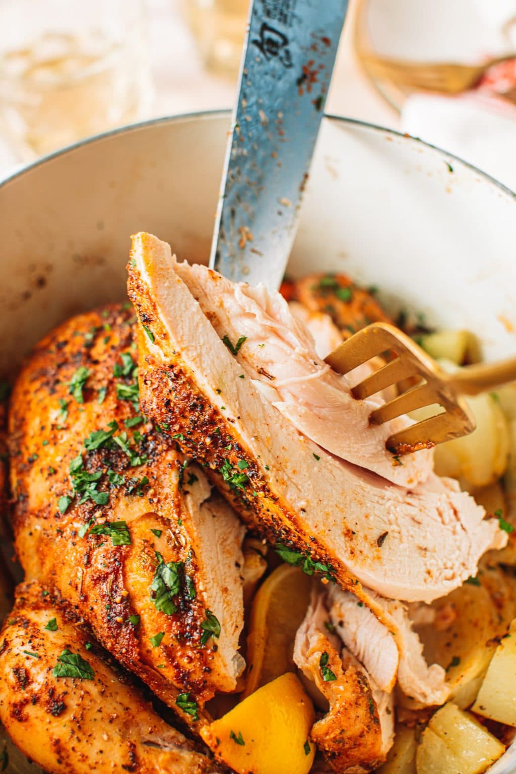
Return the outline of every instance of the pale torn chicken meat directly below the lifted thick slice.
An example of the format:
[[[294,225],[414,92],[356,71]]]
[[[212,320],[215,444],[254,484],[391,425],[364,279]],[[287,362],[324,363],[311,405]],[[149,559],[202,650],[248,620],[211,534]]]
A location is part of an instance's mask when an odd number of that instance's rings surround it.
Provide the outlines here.
[[[330,619],[344,644],[379,687],[390,692],[397,679],[403,693],[422,704],[444,704],[449,698],[446,672],[426,663],[405,605],[368,589],[364,593],[369,607],[334,584],[328,589]]]

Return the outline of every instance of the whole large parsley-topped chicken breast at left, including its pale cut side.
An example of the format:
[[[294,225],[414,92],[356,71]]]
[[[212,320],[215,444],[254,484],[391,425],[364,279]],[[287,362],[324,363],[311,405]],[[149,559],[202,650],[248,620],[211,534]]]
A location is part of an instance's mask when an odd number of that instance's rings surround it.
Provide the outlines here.
[[[22,369],[10,416],[15,545],[27,578],[60,591],[166,704],[189,692],[202,707],[244,668],[243,527],[135,408],[132,314],[69,320]]]

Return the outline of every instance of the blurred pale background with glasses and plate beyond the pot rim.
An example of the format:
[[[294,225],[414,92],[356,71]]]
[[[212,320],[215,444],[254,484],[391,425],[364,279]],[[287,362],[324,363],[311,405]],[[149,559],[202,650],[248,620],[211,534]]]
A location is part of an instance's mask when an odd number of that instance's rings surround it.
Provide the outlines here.
[[[0,176],[128,122],[229,108],[248,0],[0,0]],[[516,189],[516,0],[350,0],[330,113]]]

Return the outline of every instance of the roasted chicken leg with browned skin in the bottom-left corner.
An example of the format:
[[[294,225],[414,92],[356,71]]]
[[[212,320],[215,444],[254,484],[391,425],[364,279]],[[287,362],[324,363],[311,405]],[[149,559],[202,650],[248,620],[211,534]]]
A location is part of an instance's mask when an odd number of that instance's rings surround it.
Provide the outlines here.
[[[16,590],[0,633],[0,720],[22,752],[56,774],[216,772],[76,622],[39,584]]]

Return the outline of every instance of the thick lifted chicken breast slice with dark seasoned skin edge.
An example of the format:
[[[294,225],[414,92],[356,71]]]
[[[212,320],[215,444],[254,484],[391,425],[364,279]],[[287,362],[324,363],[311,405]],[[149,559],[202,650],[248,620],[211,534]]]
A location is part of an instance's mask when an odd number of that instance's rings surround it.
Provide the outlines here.
[[[149,331],[142,406],[180,434],[245,520],[329,565],[359,598],[357,581],[390,598],[431,601],[504,545],[497,522],[455,482],[431,474],[413,490],[395,486],[299,433],[235,357],[247,341],[228,339],[230,351],[212,324],[220,308],[204,313],[177,268],[169,245],[134,238],[128,289]]]

